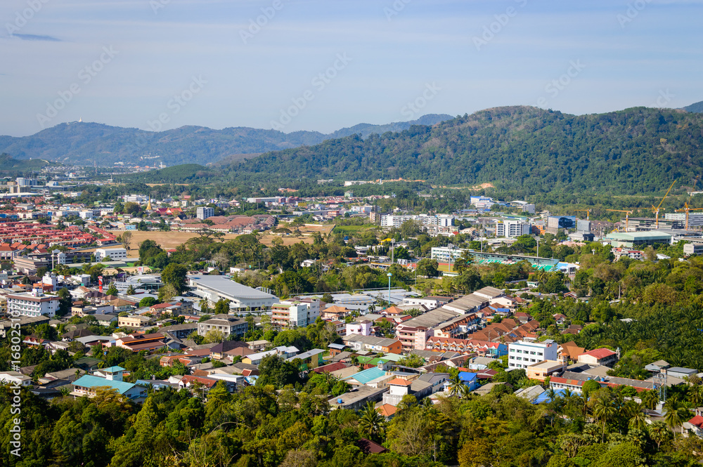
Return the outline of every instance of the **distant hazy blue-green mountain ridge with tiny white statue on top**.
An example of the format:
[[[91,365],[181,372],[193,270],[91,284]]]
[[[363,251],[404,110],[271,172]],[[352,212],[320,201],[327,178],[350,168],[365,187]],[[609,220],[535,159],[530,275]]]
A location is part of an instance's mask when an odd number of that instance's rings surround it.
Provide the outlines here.
[[[115,162],[155,165],[208,164],[225,157],[234,160],[247,154],[314,145],[328,138],[354,133],[401,131],[412,124],[435,124],[450,115],[425,115],[415,121],[387,125],[359,124],[330,135],[317,131],[283,133],[247,127],[213,130],[203,126],[182,126],[168,131],[143,131],[96,123],[58,124],[32,136],[0,136],[0,152],[16,159],[42,158],[71,164],[111,166]],[[154,158],[158,156],[158,158]],[[147,159],[145,157],[151,157]]]

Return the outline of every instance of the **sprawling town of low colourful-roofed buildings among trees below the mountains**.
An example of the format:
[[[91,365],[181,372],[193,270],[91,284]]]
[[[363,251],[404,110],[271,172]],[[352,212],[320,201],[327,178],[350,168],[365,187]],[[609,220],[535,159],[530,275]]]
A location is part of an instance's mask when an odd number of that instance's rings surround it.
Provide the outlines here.
[[[271,388],[370,419],[355,441],[368,455],[408,407],[602,393],[641,426],[703,436],[699,360],[597,337],[690,287],[640,287],[638,263],[703,273],[688,205],[609,223],[485,196],[411,213],[352,191],[79,202],[62,183],[11,180],[0,206],[0,337],[22,349],[0,382],[39,400]]]

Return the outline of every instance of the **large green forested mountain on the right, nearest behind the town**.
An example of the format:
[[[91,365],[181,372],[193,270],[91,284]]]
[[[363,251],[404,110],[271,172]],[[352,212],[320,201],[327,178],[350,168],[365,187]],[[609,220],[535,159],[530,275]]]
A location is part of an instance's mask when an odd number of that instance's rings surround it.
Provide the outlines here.
[[[569,115],[496,107],[433,127],[348,136],[263,154],[231,165],[231,177],[377,178],[442,185],[494,183],[525,195],[552,190],[645,193],[678,179],[692,185],[703,166],[703,121],[682,110],[636,107]]]

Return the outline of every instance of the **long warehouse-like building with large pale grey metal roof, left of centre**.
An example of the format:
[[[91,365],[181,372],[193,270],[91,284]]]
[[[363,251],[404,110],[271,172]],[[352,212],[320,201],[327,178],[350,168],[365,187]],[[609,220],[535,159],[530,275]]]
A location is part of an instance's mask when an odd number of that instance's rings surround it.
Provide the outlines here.
[[[235,310],[266,310],[271,308],[273,303],[278,303],[275,295],[252,289],[225,276],[193,275],[188,276],[188,282],[195,295],[211,303],[217,303],[224,298],[230,301],[230,308]]]

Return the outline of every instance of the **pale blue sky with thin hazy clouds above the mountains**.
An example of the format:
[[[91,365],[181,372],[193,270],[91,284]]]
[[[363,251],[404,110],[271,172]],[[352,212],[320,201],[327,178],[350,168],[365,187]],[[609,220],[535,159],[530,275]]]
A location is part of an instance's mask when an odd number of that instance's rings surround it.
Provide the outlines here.
[[[703,100],[703,0],[3,0],[0,135]]]

